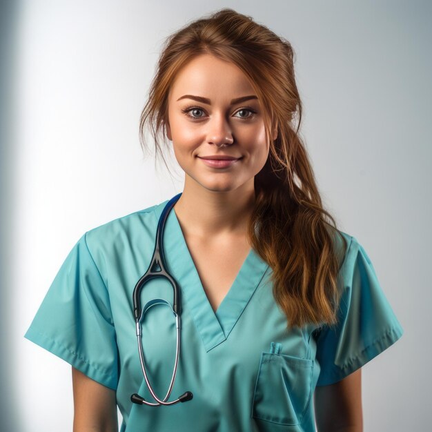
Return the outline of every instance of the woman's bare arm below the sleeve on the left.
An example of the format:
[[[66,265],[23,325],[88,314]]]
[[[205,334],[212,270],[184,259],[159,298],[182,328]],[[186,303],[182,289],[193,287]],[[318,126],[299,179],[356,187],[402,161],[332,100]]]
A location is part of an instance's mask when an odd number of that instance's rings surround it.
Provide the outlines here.
[[[74,432],[117,432],[115,391],[72,367]]]

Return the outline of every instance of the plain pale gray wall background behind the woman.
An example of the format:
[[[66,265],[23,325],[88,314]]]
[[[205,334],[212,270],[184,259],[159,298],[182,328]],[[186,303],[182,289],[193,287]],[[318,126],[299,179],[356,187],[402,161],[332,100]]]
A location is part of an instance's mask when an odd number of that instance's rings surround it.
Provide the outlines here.
[[[222,6],[293,44],[324,203],[404,328],[363,368],[364,430],[430,426],[431,3],[21,0],[0,10],[2,430],[72,429],[70,366],[23,334],[86,230],[181,191],[139,115],[164,38]]]

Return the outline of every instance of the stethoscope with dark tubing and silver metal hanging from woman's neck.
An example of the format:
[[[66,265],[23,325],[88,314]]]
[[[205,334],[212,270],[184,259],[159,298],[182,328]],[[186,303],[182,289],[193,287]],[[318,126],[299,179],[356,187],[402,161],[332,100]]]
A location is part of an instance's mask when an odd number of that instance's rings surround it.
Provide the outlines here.
[[[173,405],[177,404],[177,402],[187,402],[188,400],[191,400],[193,398],[193,394],[190,391],[186,391],[181,396],[179,396],[178,399],[173,400],[172,402],[166,402],[168,400],[168,397],[170,397],[171,390],[173,389],[174,380],[175,380],[175,374],[177,373],[177,365],[179,363],[179,351],[180,351],[180,291],[179,286],[177,285],[177,282],[173,278],[173,276],[168,273],[166,270],[166,264],[164,259],[164,251],[162,249],[162,235],[164,233],[164,226],[166,219],[168,217],[168,213],[170,213],[171,208],[173,208],[174,204],[177,202],[177,200],[181,197],[181,193],[176,195],[175,197],[171,198],[170,201],[166,204],[164,210],[161,213],[161,217],[159,217],[159,222],[157,223],[157,232],[156,232],[156,242],[155,242],[155,250],[153,251],[153,257],[150,262],[150,266],[148,266],[148,269],[146,273],[139,279],[137,284],[135,285],[135,289],[133,291],[133,315],[135,317],[135,326],[137,330],[137,341],[138,341],[138,351],[139,351],[139,362],[141,363],[141,369],[142,373],[144,375],[144,379],[146,380],[146,384],[148,386],[148,390],[150,390],[150,393],[155,398],[157,403],[147,402],[144,397],[141,397],[137,393],[134,393],[130,396],[130,400],[134,402],[135,404],[146,404],[150,406],[161,406],[161,405]],[[154,270],[153,268],[160,268],[160,270]],[[147,302],[144,308],[141,309],[141,301],[139,300],[141,290],[146,282],[148,282],[150,279],[156,278],[156,277],[164,277],[168,279],[171,286],[173,286],[174,291],[174,299],[173,299],[173,306],[171,306],[166,300],[163,299],[153,299],[150,300],[150,302]],[[144,318],[144,315],[146,315],[146,312],[148,309],[152,306],[155,306],[155,304],[167,304],[170,306],[171,310],[174,313],[175,316],[175,323],[177,327],[177,342],[176,342],[176,351],[175,351],[175,364],[173,369],[173,376],[171,377],[170,386],[168,388],[168,391],[166,393],[166,396],[164,399],[159,399],[157,397],[155,391],[152,389],[152,386],[150,385],[150,382],[148,380],[148,376],[146,373],[146,364],[144,362],[144,353],[142,348],[142,341],[141,341],[141,321]]]

